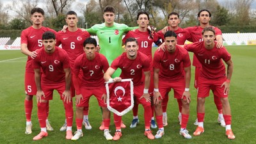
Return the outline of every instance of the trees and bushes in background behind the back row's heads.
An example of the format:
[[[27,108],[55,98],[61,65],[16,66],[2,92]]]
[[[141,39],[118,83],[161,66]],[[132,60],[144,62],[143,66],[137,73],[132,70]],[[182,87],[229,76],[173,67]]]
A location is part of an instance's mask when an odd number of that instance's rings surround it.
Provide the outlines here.
[[[244,29],[252,26],[250,31],[256,32],[256,10],[251,9],[253,1],[227,0],[220,4],[216,0],[90,0],[87,3],[77,3],[73,7],[76,7],[76,12],[83,13],[78,23],[81,28],[90,28],[104,22],[102,10],[110,5],[116,8],[116,22],[128,26],[137,26],[137,13],[145,10],[150,13],[150,24],[157,29],[168,25],[167,16],[173,11],[180,15],[180,27],[186,28],[197,25],[198,11],[207,9],[212,13],[212,26],[244,26]],[[75,0],[12,0],[12,4],[5,7],[0,2],[0,29],[28,28],[31,26],[31,9],[44,3],[45,6],[41,7],[45,10],[44,26],[60,30],[65,24],[65,13],[74,2]],[[13,19],[10,19],[11,11],[16,15]]]

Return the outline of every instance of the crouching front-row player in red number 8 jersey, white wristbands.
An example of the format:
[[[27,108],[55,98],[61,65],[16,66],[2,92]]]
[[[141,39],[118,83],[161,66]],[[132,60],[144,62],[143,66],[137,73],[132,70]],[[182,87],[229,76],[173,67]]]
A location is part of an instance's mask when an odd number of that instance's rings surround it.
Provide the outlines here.
[[[173,89],[174,97],[182,102],[180,135],[190,139],[186,126],[189,118],[189,84],[191,79],[189,54],[177,44],[177,35],[173,31],[164,34],[165,51],[160,49],[154,54],[154,104],[159,127],[155,138],[164,134],[162,99],[168,97]]]

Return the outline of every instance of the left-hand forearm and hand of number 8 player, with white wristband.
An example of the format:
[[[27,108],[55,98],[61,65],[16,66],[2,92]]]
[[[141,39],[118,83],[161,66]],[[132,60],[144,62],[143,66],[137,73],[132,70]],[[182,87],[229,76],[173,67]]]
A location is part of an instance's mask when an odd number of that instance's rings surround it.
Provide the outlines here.
[[[154,79],[154,97],[153,97],[153,102],[154,104],[158,104],[159,103],[159,97],[161,97],[161,93],[159,92],[159,68],[154,68],[154,74],[153,74],[153,79]]]

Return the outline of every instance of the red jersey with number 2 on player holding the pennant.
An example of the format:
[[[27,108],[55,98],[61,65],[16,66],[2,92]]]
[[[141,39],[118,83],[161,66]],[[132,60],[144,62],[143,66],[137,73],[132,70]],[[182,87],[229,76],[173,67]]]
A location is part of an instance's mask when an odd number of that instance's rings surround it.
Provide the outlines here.
[[[142,75],[143,72],[150,71],[150,60],[147,55],[142,52],[138,52],[135,60],[127,58],[127,53],[124,52],[121,56],[118,56],[111,64],[111,68],[121,68],[122,73],[120,77],[122,79],[132,79],[133,85],[143,84]]]

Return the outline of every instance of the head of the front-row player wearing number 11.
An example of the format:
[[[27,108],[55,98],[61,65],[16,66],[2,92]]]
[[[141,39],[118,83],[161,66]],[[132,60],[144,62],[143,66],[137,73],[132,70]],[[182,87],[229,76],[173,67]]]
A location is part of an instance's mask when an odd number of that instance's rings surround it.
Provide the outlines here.
[[[214,46],[215,30],[212,27],[205,27],[202,31],[205,46]]]

